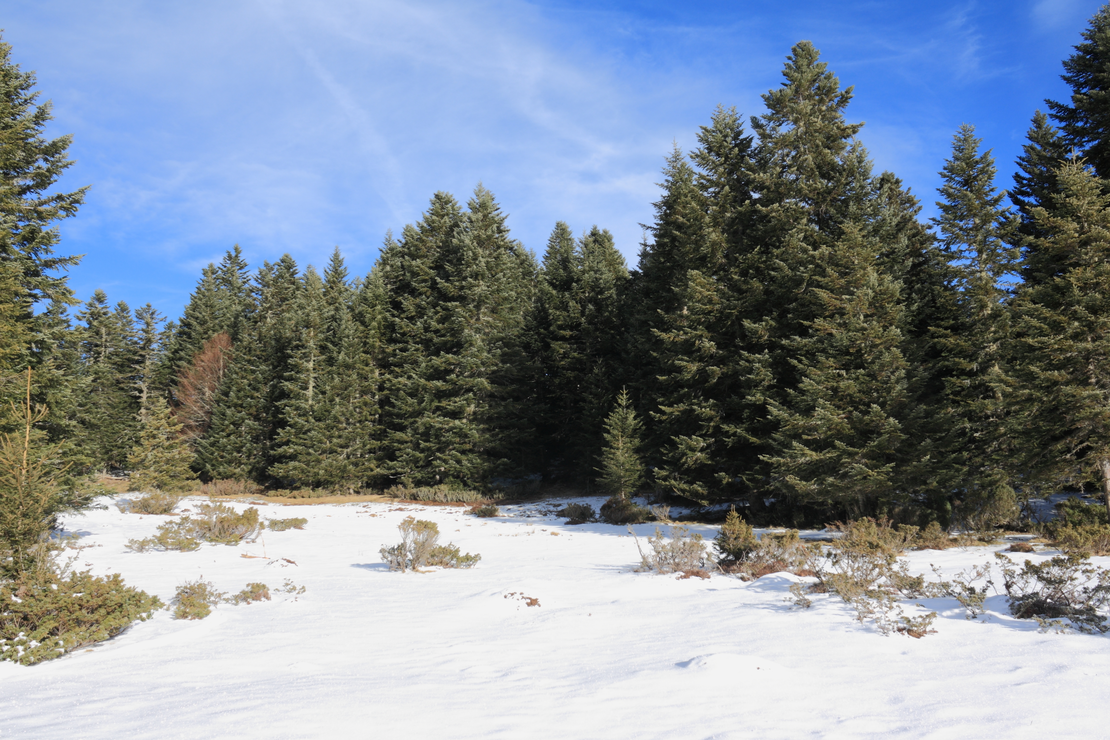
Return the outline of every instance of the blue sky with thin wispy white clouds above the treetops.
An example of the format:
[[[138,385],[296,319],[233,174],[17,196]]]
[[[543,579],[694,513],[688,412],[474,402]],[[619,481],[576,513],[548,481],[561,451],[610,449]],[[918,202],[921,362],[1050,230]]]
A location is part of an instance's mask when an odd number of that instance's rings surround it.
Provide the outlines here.
[[[71,284],[176,316],[201,266],[339,245],[370,270],[387,229],[477,182],[542,252],[557,220],[635,262],[672,142],[718,103],[750,115],[811,40],[878,169],[932,210],[951,133],[978,126],[1007,186],[1090,0],[427,2],[9,0],[4,39],[72,133]]]

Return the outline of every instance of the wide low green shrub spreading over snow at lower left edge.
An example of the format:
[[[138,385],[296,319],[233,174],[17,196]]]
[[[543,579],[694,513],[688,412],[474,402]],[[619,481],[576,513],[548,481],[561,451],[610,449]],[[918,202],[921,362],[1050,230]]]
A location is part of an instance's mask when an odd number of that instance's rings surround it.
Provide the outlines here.
[[[21,574],[0,584],[0,660],[29,666],[115,637],[162,607],[119,574]]]

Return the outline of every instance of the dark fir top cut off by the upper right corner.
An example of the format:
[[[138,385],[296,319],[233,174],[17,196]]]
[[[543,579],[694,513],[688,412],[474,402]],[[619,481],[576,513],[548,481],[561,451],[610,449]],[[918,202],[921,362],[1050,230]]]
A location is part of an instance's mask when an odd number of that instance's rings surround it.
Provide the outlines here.
[[[1071,88],[1070,102],[1045,102],[1067,144],[1106,179],[1110,178],[1110,6],[1102,6],[1080,36],[1083,42],[1063,60],[1060,75]]]

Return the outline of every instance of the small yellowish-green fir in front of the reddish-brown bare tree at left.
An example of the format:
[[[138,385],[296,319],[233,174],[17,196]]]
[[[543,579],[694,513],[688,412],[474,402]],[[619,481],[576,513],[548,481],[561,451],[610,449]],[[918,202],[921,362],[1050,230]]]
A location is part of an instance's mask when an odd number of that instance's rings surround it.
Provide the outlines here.
[[[162,396],[154,396],[139,439],[128,455],[131,490],[178,490],[196,477],[193,453],[181,437],[181,423]]]

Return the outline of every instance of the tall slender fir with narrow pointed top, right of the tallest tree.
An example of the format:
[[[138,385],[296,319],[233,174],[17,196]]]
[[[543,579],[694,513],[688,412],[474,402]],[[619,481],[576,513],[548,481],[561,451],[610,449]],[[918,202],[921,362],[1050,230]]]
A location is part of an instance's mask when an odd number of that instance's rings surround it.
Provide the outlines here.
[[[996,192],[995,162],[990,151],[979,153],[980,143],[973,126],[960,126],[940,173],[945,200],[937,203],[940,216],[934,223],[955,273],[959,317],[935,334],[949,368],[946,396],[956,424],[949,462],[966,466],[963,516],[1005,519],[1013,490],[1006,465],[1010,452],[998,432],[1013,378],[1006,353],[1009,293],[1002,281],[1016,267],[1019,221],[1001,205],[1006,192]]]

